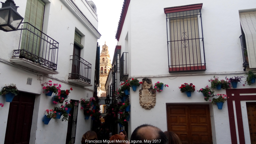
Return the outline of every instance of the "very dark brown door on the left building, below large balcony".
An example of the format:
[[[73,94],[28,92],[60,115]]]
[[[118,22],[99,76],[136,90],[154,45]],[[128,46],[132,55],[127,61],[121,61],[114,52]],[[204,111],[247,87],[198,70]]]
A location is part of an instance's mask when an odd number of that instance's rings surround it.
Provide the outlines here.
[[[19,92],[10,103],[5,144],[29,144],[35,95]]]

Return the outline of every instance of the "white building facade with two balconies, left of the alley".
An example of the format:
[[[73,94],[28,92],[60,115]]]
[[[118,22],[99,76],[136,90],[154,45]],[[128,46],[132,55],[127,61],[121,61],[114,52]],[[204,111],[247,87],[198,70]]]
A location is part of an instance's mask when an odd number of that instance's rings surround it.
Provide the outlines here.
[[[0,143],[80,143],[91,130],[91,119],[84,119],[79,100],[97,96],[95,84],[99,84],[99,74],[94,73],[101,36],[96,6],[87,0],[16,0],[15,4],[25,23],[17,31],[0,31],[0,86],[14,83],[19,95],[12,102],[0,97],[4,104]],[[60,106],[43,93],[42,84],[49,80],[61,84],[61,90],[72,87],[68,101],[77,102],[70,112],[72,121],[51,119],[48,125],[42,121],[46,109]]]

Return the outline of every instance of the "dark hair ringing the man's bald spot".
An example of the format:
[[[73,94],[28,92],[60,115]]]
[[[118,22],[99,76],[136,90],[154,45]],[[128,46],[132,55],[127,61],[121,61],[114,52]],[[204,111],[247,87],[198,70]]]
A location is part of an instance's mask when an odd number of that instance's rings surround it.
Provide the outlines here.
[[[154,131],[145,131],[146,133],[149,133],[149,132],[155,132],[155,134],[157,134],[157,137],[154,139],[154,140],[161,140],[160,142],[158,141],[155,141],[154,143],[159,143],[159,144],[167,144],[168,142],[168,139],[167,139],[167,136],[164,134],[164,132],[159,129],[158,127],[155,127],[155,126],[152,126],[152,125],[147,125],[147,124],[144,124],[144,125],[141,125],[141,126],[138,126],[133,132],[132,132],[132,135],[131,135],[131,140],[134,141],[134,143],[140,143],[140,144],[144,144],[144,140],[153,140],[153,138],[148,138],[145,136],[144,133],[142,132],[138,132],[141,128],[143,127],[151,127],[154,129]],[[141,140],[141,142],[140,142]],[[146,144],[146,143],[145,143]]]

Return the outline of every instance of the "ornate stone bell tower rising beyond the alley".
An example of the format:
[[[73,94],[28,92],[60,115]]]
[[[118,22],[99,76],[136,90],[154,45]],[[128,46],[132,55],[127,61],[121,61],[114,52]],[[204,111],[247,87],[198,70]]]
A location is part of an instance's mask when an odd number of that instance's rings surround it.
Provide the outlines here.
[[[105,91],[105,83],[111,68],[111,60],[109,56],[108,46],[105,44],[102,46],[100,54],[100,87],[101,90]]]

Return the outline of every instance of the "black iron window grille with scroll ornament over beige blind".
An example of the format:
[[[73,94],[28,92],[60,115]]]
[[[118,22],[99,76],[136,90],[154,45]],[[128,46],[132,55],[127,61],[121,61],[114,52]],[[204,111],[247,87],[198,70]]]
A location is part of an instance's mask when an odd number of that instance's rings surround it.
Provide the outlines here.
[[[169,72],[206,70],[201,9],[166,13],[166,27]]]

